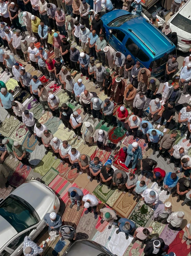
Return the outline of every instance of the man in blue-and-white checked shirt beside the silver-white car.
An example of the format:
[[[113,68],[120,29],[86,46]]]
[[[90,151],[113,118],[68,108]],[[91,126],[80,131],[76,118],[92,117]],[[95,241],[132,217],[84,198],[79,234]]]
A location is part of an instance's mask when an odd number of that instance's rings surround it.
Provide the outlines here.
[[[35,242],[31,241],[30,237],[26,236],[23,242],[24,256],[37,256],[43,252],[43,248],[38,246]]]

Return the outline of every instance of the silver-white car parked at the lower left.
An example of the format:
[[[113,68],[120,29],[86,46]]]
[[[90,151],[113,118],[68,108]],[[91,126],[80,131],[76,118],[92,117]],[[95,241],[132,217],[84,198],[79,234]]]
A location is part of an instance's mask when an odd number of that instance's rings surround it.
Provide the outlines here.
[[[34,240],[46,226],[43,217],[58,213],[60,202],[52,189],[30,180],[0,202],[0,256],[19,256],[23,240]]]

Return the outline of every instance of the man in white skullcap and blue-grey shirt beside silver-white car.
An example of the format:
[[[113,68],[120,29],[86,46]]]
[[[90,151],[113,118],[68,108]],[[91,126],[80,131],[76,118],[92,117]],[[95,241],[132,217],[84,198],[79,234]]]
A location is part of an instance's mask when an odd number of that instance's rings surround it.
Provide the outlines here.
[[[47,223],[49,233],[50,231],[56,231],[59,233],[59,229],[62,226],[62,220],[60,215],[55,212],[46,213],[43,220]]]

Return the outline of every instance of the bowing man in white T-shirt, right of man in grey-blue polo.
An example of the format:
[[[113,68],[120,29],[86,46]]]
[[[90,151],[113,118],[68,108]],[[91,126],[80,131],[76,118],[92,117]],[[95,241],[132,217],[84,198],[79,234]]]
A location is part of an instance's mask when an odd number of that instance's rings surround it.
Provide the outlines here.
[[[94,218],[98,218],[98,212],[99,212],[99,203],[98,199],[94,195],[87,194],[82,197],[82,207],[87,208],[87,210],[84,212],[84,214],[88,214],[92,211],[94,213]]]

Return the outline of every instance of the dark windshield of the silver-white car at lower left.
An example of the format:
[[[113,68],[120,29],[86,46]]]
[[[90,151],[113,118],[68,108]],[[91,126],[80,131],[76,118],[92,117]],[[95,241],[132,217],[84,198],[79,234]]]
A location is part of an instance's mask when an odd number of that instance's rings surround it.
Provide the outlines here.
[[[0,215],[6,219],[11,226],[21,232],[34,224],[38,223],[38,219],[34,213],[32,206],[18,196],[9,196],[0,205]]]

